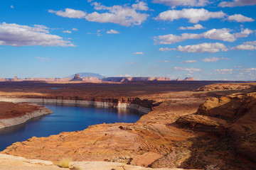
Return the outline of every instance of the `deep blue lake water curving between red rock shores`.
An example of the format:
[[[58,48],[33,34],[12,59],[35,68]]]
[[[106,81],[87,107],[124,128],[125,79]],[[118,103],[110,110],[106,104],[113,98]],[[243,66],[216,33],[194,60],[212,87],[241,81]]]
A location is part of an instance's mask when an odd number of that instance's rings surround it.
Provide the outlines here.
[[[0,151],[14,142],[33,136],[48,137],[60,132],[84,130],[89,125],[101,123],[135,123],[142,116],[132,109],[87,108],[77,106],[43,105],[53,114],[33,118],[27,123],[0,130]]]

